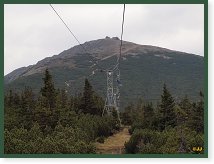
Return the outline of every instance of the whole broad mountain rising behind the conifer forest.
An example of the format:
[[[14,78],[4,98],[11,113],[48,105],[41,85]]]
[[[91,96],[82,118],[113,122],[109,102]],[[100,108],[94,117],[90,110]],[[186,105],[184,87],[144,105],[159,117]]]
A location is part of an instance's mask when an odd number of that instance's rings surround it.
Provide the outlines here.
[[[82,90],[87,77],[95,91],[105,97],[106,74],[94,62],[105,69],[115,65],[120,40],[106,37],[85,42],[83,46],[87,53],[81,46],[74,46],[9,73],[4,77],[5,93],[9,89],[20,91],[25,86],[31,86],[38,93],[44,70],[48,68],[56,87],[76,94]],[[146,101],[159,100],[163,83],[176,99],[188,95],[197,100],[204,88],[204,58],[194,54],[124,41],[120,68],[122,106],[140,97]]]

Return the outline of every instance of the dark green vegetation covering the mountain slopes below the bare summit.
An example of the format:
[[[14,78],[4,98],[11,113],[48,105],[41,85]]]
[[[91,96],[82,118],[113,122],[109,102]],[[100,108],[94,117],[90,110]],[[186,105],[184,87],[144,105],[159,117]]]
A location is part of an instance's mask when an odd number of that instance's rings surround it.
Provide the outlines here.
[[[109,55],[109,53],[106,54]],[[169,58],[161,57],[163,54]],[[66,65],[64,60],[75,63],[75,67]],[[94,63],[90,63],[91,57],[85,54],[69,56],[68,59],[64,60],[57,67],[52,67],[58,62],[55,62],[54,59],[52,61],[51,58],[51,63],[45,64],[48,67],[50,66],[55,87],[65,88],[65,81],[70,82],[71,87],[66,89],[69,94],[74,96],[76,93],[83,92],[83,79],[95,70],[95,67],[92,67]],[[108,68],[116,60],[116,56],[112,56],[99,61],[99,65]],[[143,53],[136,50],[124,56],[120,67],[121,82],[123,84],[120,103],[122,109],[128,105],[128,102],[137,103],[140,97],[143,97],[145,101],[152,101],[156,105],[155,103],[160,101],[163,81],[170,82],[167,83],[167,87],[173,96],[184,97],[185,94],[188,94],[189,99],[193,101],[198,100],[198,91],[204,89],[204,81],[202,80],[204,79],[204,58],[201,56],[175,51],[148,51]],[[33,92],[37,94],[43,83],[42,77],[43,72],[38,72],[21,76],[10,83],[5,82],[5,91],[9,92],[10,89],[21,91],[24,90],[24,86],[30,86]],[[95,71],[95,75],[88,76],[87,79],[93,85],[94,90],[105,97],[105,91],[103,90],[106,87],[105,73]]]

